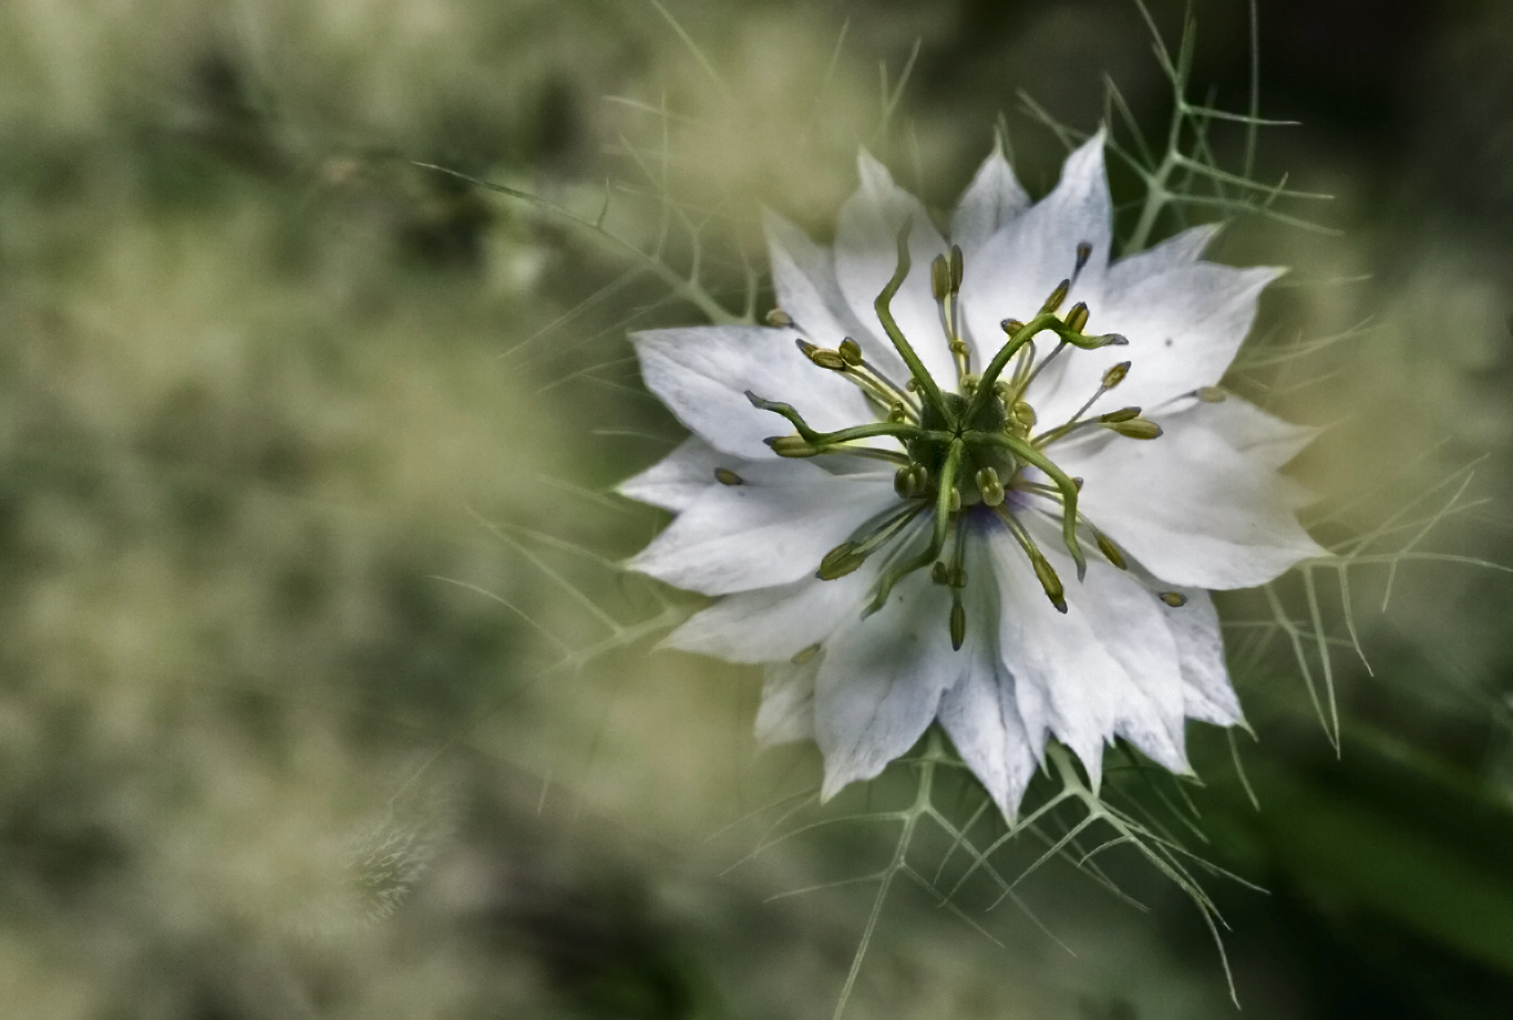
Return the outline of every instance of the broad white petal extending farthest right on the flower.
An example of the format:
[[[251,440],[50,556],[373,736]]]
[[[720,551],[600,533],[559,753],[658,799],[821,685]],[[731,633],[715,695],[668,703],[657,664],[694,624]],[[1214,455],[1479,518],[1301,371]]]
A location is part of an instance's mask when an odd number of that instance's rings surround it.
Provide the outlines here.
[[[1163,427],[1159,439],[1061,454],[1064,471],[1086,478],[1082,512],[1153,574],[1191,587],[1254,587],[1324,554],[1274,471],[1182,415]]]

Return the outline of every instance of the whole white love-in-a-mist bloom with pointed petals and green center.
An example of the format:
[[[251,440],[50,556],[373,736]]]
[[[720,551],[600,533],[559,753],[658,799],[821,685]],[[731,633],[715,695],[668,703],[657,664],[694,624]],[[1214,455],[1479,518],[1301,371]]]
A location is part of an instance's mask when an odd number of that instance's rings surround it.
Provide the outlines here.
[[[631,566],[719,596],[667,643],[764,663],[825,796],[937,719],[1008,816],[1050,737],[1186,770],[1242,719],[1206,589],[1321,554],[1277,474],[1312,433],[1215,389],[1278,271],[1210,227],[1111,262],[1101,135],[1036,204],[991,154],[949,241],[859,173],[832,250],[769,216],[770,325],[632,337],[693,436],[622,486],[676,515]]]

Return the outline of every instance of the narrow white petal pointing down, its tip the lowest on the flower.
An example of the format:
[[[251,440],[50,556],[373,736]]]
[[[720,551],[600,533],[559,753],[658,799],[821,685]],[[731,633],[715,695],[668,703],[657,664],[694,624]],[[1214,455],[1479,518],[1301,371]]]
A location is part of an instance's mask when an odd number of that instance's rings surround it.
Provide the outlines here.
[[[940,720],[961,760],[1012,819],[1035,778],[1045,734],[1032,740],[1020,719],[1014,675],[999,654],[999,599],[986,598],[993,592],[986,580],[967,586],[967,640],[956,652],[967,669],[941,698]]]

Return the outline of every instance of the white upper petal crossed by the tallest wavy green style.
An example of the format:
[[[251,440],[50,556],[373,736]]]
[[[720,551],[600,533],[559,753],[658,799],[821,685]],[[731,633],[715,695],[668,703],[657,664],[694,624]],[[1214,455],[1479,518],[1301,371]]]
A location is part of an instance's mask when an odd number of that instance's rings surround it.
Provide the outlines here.
[[[899,230],[909,222],[909,275],[893,298],[893,318],[929,374],[953,380],[956,368],[930,292],[930,260],[946,254],[946,241],[924,206],[894,185],[882,163],[864,151],[856,157],[856,171],[861,186],[841,206],[835,225],[835,278],[841,294],[859,321],[878,322],[873,303],[899,266]],[[881,324],[873,330],[885,337]]]

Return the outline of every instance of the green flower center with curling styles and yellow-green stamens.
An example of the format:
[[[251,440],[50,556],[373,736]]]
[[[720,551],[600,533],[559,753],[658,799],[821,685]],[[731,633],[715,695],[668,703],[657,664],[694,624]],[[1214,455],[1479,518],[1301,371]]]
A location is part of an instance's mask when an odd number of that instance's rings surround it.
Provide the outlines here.
[[[753,406],[782,415],[794,425],[794,434],[767,440],[779,457],[844,454],[897,465],[894,487],[903,505],[831,549],[820,561],[817,575],[822,580],[844,577],[873,554],[887,549],[888,566],[873,592],[867,608],[870,614],[887,604],[888,595],[900,580],[930,568],[934,580],[952,589],[952,645],[961,648],[967,627],[961,593],[967,586],[964,557],[968,521],[983,519],[988,515],[997,518],[1029,557],[1047,598],[1065,613],[1067,601],[1061,578],[1035,545],[1020,521],[1020,513],[1035,505],[1055,507],[1055,516],[1059,516],[1062,524],[1062,540],[1077,564],[1079,580],[1086,571],[1079,531],[1092,536],[1100,554],[1114,566],[1126,569],[1126,561],[1120,549],[1079,513],[1077,493],[1082,480],[1068,477],[1045,451],[1070,436],[1092,428],[1132,439],[1156,439],[1160,436],[1160,428],[1141,418],[1138,407],[1085,418],[1094,403],[1127,375],[1130,363],[1121,362],[1103,374],[1097,392],[1077,413],[1052,428],[1035,431],[1036,415],[1027,401],[1027,392],[1049,363],[1068,347],[1098,350],[1127,342],[1117,333],[1086,333],[1089,318],[1086,304],[1077,303],[1061,315],[1061,306],[1092,254],[1091,245],[1077,245],[1071,278],[1064,280],[1050,294],[1033,318],[1027,322],[1003,321],[1005,342],[980,374],[971,371],[971,351],[959,328],[964,272],[961,248],[952,247],[949,256],[937,257],[930,265],[930,286],[940,307],[941,330],[956,366],[955,389],[943,390],[924,369],[891,313],[893,297],[909,272],[908,236],[909,225],[905,224],[899,235],[897,269],[875,303],[884,331],[908,368],[909,378],[905,386],[899,386],[870,365],[862,357],[861,347],[852,339],[843,341],[837,350],[797,341],[799,350],[814,365],[841,374],[862,390],[878,415],[876,421],[822,433],[811,428],[788,404],[769,401],[750,392],[746,396]],[[791,324],[785,315],[781,321]],[[1045,333],[1056,336],[1056,345],[1044,357],[1036,359],[1035,337]],[[897,440],[903,451],[867,445],[867,440],[881,436]],[[1011,499],[1011,493],[1018,495]],[[900,546],[908,543],[896,539],[912,534],[909,525],[926,513],[930,513],[932,525],[929,542],[915,554],[906,555],[906,549]],[[1173,593],[1163,593],[1162,598],[1168,595]],[[1167,601],[1173,604],[1173,599]]]

